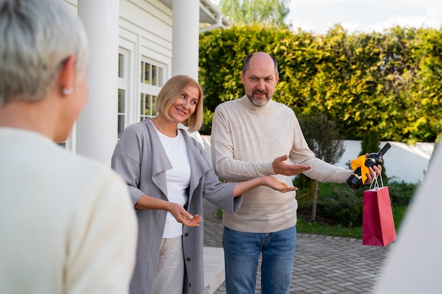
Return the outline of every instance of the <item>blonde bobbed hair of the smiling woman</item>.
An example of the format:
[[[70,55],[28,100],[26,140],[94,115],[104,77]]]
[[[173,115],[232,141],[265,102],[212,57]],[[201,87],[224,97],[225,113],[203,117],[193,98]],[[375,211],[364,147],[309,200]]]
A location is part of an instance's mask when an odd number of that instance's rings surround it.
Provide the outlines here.
[[[195,112],[186,121],[183,121],[183,125],[189,128],[189,132],[193,132],[199,130],[203,125],[203,90],[198,82],[189,75],[175,75],[165,83],[160,93],[158,93],[157,99],[155,99],[155,111],[170,119],[168,112],[170,106],[177,101],[177,97],[189,86],[197,87],[199,92]]]

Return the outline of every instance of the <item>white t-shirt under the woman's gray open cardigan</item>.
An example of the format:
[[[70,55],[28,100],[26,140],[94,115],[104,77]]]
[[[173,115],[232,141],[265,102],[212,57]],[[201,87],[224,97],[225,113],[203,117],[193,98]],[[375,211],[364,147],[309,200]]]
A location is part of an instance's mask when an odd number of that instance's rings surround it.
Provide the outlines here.
[[[157,130],[155,128],[155,130]],[[187,155],[186,142],[181,132],[177,137],[167,137],[157,130],[162,146],[172,164],[172,169],[166,171],[167,199],[185,206],[189,196],[187,190],[191,178],[191,166]],[[165,231],[162,238],[175,238],[183,234],[183,224],[179,223],[170,212],[167,212]]]

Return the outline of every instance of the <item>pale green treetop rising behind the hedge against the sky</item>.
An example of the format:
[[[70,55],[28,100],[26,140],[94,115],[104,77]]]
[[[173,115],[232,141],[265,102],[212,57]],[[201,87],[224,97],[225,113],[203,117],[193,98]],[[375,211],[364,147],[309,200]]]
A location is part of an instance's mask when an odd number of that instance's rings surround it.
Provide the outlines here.
[[[289,0],[220,0],[221,12],[232,23],[250,25],[261,23],[288,27],[285,18],[289,15]]]

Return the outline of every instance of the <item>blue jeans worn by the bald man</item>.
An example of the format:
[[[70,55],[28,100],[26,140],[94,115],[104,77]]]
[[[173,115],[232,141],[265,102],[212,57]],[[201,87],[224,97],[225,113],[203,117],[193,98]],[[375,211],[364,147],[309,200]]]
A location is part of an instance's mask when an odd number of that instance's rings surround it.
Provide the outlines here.
[[[244,233],[224,227],[227,294],[255,293],[261,254],[261,293],[288,294],[296,240],[296,226],[275,233]]]

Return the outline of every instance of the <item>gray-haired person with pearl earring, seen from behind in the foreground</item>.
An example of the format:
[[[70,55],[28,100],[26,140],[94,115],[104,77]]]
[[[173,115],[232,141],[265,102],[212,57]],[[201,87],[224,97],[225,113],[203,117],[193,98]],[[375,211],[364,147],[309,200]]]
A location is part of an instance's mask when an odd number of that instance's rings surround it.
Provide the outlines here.
[[[0,293],[129,293],[137,222],[124,181],[67,152],[88,42],[61,0],[0,0]]]

